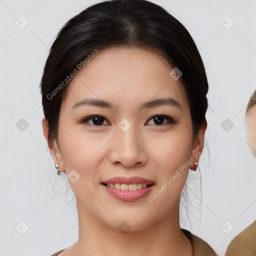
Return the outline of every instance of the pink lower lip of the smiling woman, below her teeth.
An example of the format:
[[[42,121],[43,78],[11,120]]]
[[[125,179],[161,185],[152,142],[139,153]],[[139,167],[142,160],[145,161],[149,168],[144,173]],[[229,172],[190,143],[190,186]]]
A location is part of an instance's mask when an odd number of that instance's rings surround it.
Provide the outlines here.
[[[118,183],[118,182],[115,182]],[[126,184],[126,183],[123,183]],[[123,191],[123,190],[118,190],[106,185],[101,184],[107,192],[109,192],[112,196],[114,196],[115,198],[122,200],[122,201],[135,201],[138,200],[139,198],[145,196],[146,194],[148,194],[151,189],[153,188],[154,185],[151,186],[147,186],[145,188],[141,188],[141,189],[137,189],[134,191]]]

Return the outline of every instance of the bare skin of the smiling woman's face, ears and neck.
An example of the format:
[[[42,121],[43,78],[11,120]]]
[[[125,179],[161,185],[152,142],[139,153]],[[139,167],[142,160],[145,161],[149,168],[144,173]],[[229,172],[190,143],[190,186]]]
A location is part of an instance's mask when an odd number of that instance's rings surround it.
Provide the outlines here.
[[[193,137],[188,100],[183,85],[174,80],[167,61],[149,49],[102,49],[72,79],[61,104],[58,148],[51,150],[59,170],[75,169],[80,178],[70,186],[76,195],[79,239],[59,255],[185,255],[192,256],[189,239],[179,227],[179,196],[188,168],[154,201],[148,197],[172,177],[183,163],[203,148],[206,123]],[[167,98],[174,105],[141,108],[140,104]],[[72,106],[85,98],[107,100],[115,108]],[[103,116],[101,126],[91,114]],[[152,118],[165,114],[177,123],[157,124]],[[118,123],[126,118],[131,127]],[[107,125],[110,124],[110,125]],[[42,119],[47,139],[47,124]],[[198,158],[196,160],[198,163]],[[194,162],[191,168],[196,168]],[[133,202],[118,200],[101,182],[115,176],[140,176],[154,182],[152,192]],[[126,221],[130,230],[118,226]],[[97,253],[97,254],[95,254]]]

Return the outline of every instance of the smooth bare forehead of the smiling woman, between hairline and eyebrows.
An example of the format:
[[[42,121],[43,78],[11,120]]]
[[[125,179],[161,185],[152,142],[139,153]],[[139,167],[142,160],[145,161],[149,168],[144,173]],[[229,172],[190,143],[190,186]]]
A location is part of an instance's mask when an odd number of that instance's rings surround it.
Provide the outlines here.
[[[83,98],[98,98],[113,102],[118,108],[131,108],[149,99],[171,96],[185,109],[186,93],[180,80],[169,75],[172,69],[163,57],[149,49],[102,49],[72,79],[64,101],[70,107]]]

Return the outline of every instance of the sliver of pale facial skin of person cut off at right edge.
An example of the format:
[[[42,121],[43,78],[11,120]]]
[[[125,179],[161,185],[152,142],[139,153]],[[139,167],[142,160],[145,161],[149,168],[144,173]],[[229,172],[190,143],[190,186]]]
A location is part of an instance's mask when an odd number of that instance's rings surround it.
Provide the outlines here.
[[[247,143],[256,157],[256,105],[249,108],[245,116],[245,125],[247,130]]]

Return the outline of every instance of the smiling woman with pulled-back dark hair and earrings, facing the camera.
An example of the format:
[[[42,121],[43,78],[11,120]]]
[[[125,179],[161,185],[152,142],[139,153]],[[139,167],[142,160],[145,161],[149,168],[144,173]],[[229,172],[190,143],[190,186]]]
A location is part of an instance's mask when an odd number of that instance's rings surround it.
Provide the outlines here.
[[[94,4],[58,33],[40,86],[43,133],[78,212],[78,241],[54,256],[216,255],[179,226],[208,83],[178,20],[145,0]]]

